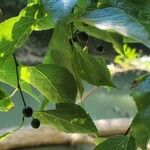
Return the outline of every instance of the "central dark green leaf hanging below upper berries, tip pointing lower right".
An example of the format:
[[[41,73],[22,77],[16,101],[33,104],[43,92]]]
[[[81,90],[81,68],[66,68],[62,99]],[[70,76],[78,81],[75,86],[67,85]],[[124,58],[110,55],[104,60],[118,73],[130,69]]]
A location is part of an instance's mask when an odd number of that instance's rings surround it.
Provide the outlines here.
[[[93,85],[114,86],[111,81],[110,72],[104,62],[99,58],[94,58],[75,44],[74,67],[78,75],[85,81]]]

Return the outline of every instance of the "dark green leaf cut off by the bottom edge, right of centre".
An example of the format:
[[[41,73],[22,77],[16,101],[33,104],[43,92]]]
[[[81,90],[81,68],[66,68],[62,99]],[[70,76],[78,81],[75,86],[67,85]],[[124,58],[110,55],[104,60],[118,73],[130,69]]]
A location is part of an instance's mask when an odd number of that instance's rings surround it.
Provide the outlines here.
[[[135,139],[128,136],[114,136],[108,138],[94,150],[136,150]]]

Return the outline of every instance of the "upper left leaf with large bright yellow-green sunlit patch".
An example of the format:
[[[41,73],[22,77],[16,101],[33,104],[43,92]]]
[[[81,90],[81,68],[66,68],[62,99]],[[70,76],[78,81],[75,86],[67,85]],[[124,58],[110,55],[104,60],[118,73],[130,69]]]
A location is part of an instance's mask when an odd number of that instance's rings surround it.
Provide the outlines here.
[[[0,24],[0,68],[32,32],[32,27],[36,23],[35,14],[38,7],[38,5],[30,5],[23,9],[18,17],[8,19]]]

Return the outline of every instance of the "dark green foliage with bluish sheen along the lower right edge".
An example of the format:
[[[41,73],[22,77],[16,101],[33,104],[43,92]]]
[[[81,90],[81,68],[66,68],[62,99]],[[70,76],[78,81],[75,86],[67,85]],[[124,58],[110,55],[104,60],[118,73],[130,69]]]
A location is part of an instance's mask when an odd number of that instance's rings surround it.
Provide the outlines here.
[[[136,86],[131,92],[138,113],[132,122],[132,134],[138,146],[146,150],[150,139],[150,76],[145,74],[135,80]]]

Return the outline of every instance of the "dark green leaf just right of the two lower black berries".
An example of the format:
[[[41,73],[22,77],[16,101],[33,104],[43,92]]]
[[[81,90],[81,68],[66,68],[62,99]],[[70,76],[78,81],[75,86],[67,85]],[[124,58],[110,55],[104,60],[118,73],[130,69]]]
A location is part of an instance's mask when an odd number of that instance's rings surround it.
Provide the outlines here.
[[[39,118],[43,124],[53,125],[68,133],[97,134],[96,126],[90,116],[76,104],[57,104],[55,110],[35,112],[34,117]]]

